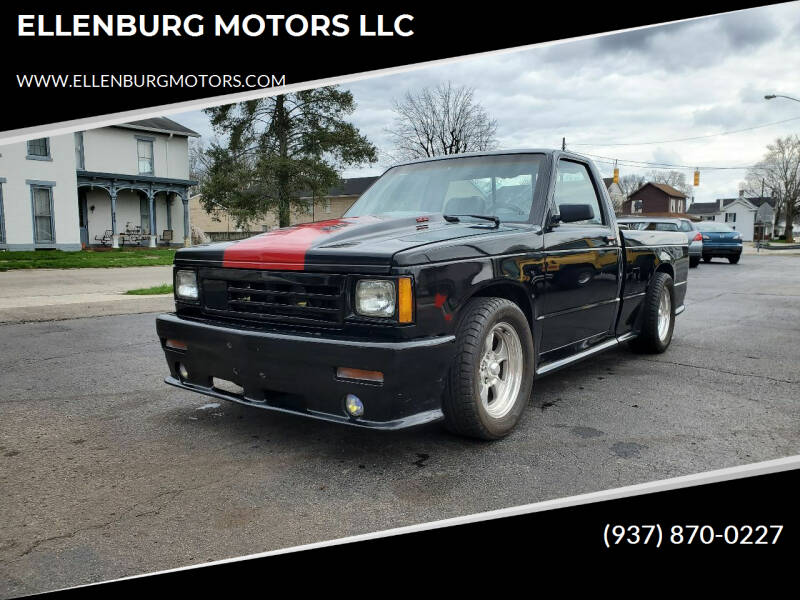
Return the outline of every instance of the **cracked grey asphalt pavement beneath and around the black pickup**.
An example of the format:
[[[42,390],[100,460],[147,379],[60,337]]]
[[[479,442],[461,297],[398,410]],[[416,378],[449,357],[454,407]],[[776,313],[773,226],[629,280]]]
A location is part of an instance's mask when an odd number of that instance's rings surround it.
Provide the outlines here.
[[[0,595],[800,453],[800,257],[690,275],[670,349],[537,382],[480,443],[162,383],[153,314],[0,325]]]

